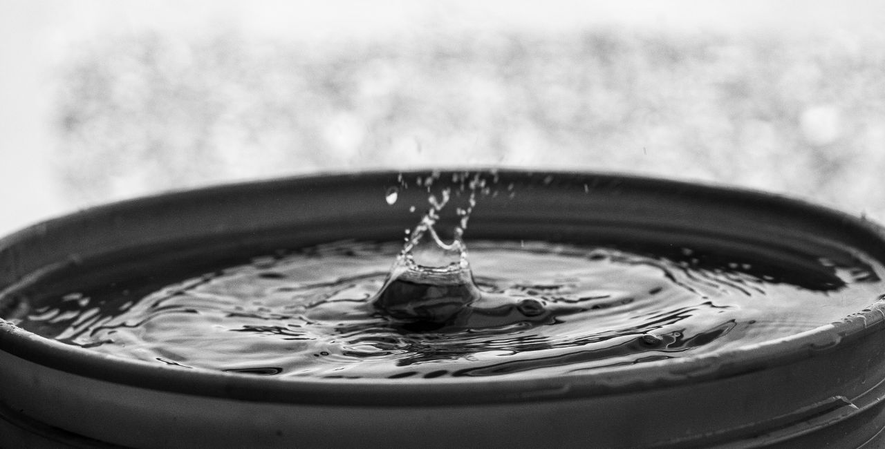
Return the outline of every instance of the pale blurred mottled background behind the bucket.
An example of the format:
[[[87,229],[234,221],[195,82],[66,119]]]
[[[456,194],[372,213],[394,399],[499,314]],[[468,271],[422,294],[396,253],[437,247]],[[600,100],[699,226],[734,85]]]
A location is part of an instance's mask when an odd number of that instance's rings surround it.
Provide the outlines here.
[[[885,3],[0,0],[0,235],[375,168],[621,171],[885,221]]]

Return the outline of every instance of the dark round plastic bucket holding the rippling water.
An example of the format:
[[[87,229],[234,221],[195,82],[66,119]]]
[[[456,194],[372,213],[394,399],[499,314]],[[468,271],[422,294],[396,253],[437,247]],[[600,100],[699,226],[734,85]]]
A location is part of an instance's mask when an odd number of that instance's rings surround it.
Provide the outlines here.
[[[497,177],[516,194],[482,198],[468,239],[702,242],[783,263],[858,248],[885,263],[879,226],[772,194],[616,175]],[[403,189],[390,206],[384,194],[397,184],[396,172],[323,175],[85,210],[0,240],[0,290],[90,263],[127,270],[127,261],[150,256],[198,268],[207,255],[399,240],[414,225],[409,205],[424,204],[427,194]],[[16,301],[0,297],[0,316]],[[0,320],[0,445],[877,447],[883,352],[881,301],[762,345],[517,380],[299,380],[175,369],[67,346]]]

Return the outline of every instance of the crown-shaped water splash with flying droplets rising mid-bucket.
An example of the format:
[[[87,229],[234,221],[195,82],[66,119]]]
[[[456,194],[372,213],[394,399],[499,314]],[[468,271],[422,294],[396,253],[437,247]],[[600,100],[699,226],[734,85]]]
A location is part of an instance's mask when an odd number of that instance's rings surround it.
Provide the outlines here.
[[[489,172],[492,183],[497,173]],[[550,177],[549,177],[550,178]],[[550,178],[552,179],[552,178]],[[399,179],[401,186],[404,180]],[[545,179],[545,182],[549,182]],[[554,323],[558,316],[584,310],[582,305],[538,301],[509,294],[483,292],[473,279],[467,258],[464,232],[476,207],[477,195],[493,194],[481,173],[459,172],[451,184],[440,184],[438,172],[416,182],[427,189],[427,213],[413,230],[406,230],[402,252],[388,278],[373,297],[375,310],[410,331],[458,332],[509,326],[534,327]],[[439,235],[442,212],[456,197],[464,203],[455,206],[451,242]]]

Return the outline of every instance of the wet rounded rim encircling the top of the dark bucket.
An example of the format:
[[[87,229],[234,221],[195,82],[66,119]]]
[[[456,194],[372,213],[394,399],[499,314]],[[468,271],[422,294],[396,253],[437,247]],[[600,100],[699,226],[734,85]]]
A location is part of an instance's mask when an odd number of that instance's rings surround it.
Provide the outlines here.
[[[426,175],[428,172],[414,171],[404,173],[404,176]],[[624,185],[635,184],[644,188],[660,186],[692,193],[703,193],[721,197],[723,200],[762,202],[768,206],[800,209],[815,218],[835,220],[842,225],[849,226],[851,232],[862,234],[861,237],[871,243],[875,242],[881,246],[882,242],[885,242],[885,230],[879,225],[833,209],[775,194],[617,174],[552,171],[537,174],[527,171],[499,171],[499,173],[502,178],[509,175],[527,176],[535,181],[549,175],[566,179],[593,176]],[[100,206],[57,218],[52,222],[64,225],[77,217],[89,216],[119,207],[150,208],[168,198],[181,200],[204,194],[250,194],[273,188],[278,184],[286,184],[292,188],[292,186],[299,185],[315,185],[318,181],[346,186],[348,180],[354,179],[387,181],[396,179],[396,172],[313,175],[293,179],[214,186]],[[0,249],[33,235],[42,225],[31,226],[0,240]],[[879,262],[885,261],[881,261],[879,258]],[[57,369],[115,384],[233,400],[342,406],[430,406],[573,400],[610,393],[637,392],[667,385],[694,384],[700,381],[772,368],[815,354],[837,351],[844,343],[881,331],[885,326],[885,299],[883,298],[885,296],[865,308],[864,311],[858,311],[857,314],[847,316],[842,321],[797,333],[788,338],[775,339],[755,346],[742,346],[714,354],[650,361],[561,377],[526,374],[518,378],[302,379],[257,377],[212,369],[180,369],[147,361],[117,358],[98,354],[78,346],[69,346],[20,329],[3,319],[0,319],[0,350],[48,369]],[[4,369],[9,368],[4,367]],[[52,376],[51,371],[47,372],[49,376]]]

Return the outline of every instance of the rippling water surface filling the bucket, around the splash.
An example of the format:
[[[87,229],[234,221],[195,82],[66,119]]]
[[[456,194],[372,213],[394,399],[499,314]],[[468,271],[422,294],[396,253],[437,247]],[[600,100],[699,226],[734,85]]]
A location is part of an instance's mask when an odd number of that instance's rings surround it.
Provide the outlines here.
[[[343,242],[192,278],[96,285],[39,301],[19,326],[118,357],[254,376],[444,378],[562,375],[709,354],[857,312],[885,293],[881,267],[813,270],[699,248],[478,241],[481,299],[445,323],[379,313],[401,243]],[[412,288],[403,285],[404,291]]]

